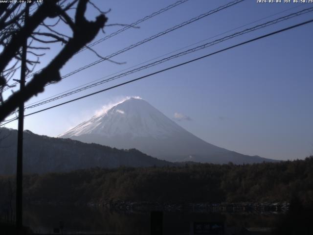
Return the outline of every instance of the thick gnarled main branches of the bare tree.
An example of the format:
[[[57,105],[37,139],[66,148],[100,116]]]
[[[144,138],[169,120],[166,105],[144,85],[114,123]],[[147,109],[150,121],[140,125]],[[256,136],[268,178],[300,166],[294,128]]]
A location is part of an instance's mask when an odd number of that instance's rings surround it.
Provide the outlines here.
[[[2,105],[0,105],[0,121],[4,120],[6,116],[16,110],[21,101],[25,102],[32,96],[43,92],[46,84],[60,81],[60,69],[77,51],[91,42],[107,22],[107,18],[103,14],[97,16],[96,20],[93,22],[86,20],[85,12],[88,0],[77,0],[77,10],[74,18],[75,22],[73,22],[64,9],[57,4],[58,2],[59,1],[45,0],[34,15],[29,18],[27,22],[28,25],[23,26],[19,32],[12,36],[12,39],[0,54],[0,71],[3,71],[8,64],[8,61],[13,57],[18,56],[17,53],[19,53],[19,48],[22,44],[21,41],[29,37],[34,38],[32,33],[47,17],[62,16],[73,31],[72,38],[68,39],[65,46],[44,69],[39,73],[35,73],[33,78],[25,86],[24,90],[13,93],[3,101]],[[50,11],[48,11],[47,8],[49,8]],[[53,9],[52,12],[51,8]],[[20,36],[20,40],[17,40],[16,35]],[[58,38],[57,40],[60,40],[60,37],[55,34],[37,33],[37,35]],[[38,40],[38,38],[35,40]],[[14,45],[12,42],[15,42],[17,45]],[[11,48],[13,51],[9,51],[8,48]],[[36,61],[29,62],[37,63]]]

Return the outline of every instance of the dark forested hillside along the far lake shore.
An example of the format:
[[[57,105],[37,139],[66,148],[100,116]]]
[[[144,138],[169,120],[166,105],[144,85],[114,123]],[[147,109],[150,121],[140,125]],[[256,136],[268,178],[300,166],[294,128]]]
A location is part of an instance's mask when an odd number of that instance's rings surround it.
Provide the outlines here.
[[[1,177],[1,201],[13,177]],[[263,164],[185,164],[146,168],[92,168],[24,177],[25,201],[65,203],[282,202],[297,196],[313,204],[313,157]],[[13,189],[14,190],[14,189]]]

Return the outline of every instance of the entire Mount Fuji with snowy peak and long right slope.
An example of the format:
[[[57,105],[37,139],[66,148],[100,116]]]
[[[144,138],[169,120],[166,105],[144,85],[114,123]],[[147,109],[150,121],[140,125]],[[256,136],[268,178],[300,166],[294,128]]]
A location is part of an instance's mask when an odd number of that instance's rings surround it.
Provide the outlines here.
[[[136,148],[171,162],[249,164],[275,161],[243,155],[205,142],[147,101],[135,97],[123,100],[58,137],[120,149]]]

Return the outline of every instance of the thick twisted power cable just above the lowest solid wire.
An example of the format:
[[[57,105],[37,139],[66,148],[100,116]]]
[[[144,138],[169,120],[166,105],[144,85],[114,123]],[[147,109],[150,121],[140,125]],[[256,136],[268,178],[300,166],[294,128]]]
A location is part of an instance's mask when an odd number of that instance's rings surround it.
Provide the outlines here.
[[[298,12],[296,12],[296,13],[292,13],[292,14],[287,15],[287,16],[284,16],[284,17],[280,17],[280,18],[278,18],[278,19],[269,21],[269,22],[264,23],[264,24],[258,24],[258,25],[254,26],[254,27],[247,28],[247,29],[245,29],[245,30],[243,30],[243,31],[236,32],[236,33],[234,33],[234,34],[225,36],[225,37],[223,37],[223,38],[220,38],[220,39],[217,39],[217,40],[215,40],[215,41],[212,41],[212,42],[203,44],[203,45],[201,45],[201,46],[194,47],[194,48],[191,48],[191,49],[182,51],[182,52],[177,53],[177,54],[175,54],[175,55],[172,55],[172,56],[163,58],[163,59],[161,59],[161,60],[155,61],[155,62],[153,62],[153,63],[150,63],[150,64],[147,64],[147,65],[138,67],[138,68],[136,68],[136,69],[134,69],[134,70],[131,70],[131,71],[126,71],[126,72],[124,72],[124,73],[115,75],[115,76],[110,77],[110,78],[108,78],[108,79],[105,79],[105,80],[102,80],[102,81],[99,81],[99,82],[90,84],[90,85],[88,85],[88,86],[85,86],[85,87],[76,89],[76,90],[74,90],[74,91],[68,92],[68,93],[66,93],[66,94],[61,94],[61,95],[55,96],[55,97],[50,98],[50,99],[45,99],[44,101],[41,101],[41,102],[38,101],[38,102],[36,102],[36,103],[33,104],[33,105],[28,105],[28,106],[26,106],[26,107],[25,107],[25,110],[26,110],[26,109],[35,108],[35,107],[37,107],[37,106],[40,106],[40,105],[43,105],[43,104],[46,104],[46,103],[49,103],[49,102],[52,102],[52,101],[55,101],[55,100],[64,98],[64,97],[69,96],[69,95],[72,95],[72,94],[76,94],[76,93],[78,93],[78,92],[81,92],[81,91],[90,89],[90,88],[92,88],[92,87],[99,86],[99,85],[101,85],[101,84],[107,83],[107,82],[112,81],[112,80],[115,80],[115,79],[117,79],[117,78],[121,78],[121,77],[124,77],[124,76],[126,76],[126,75],[132,74],[132,73],[134,73],[134,72],[151,68],[151,67],[153,67],[153,66],[156,66],[156,65],[158,65],[158,64],[164,63],[164,62],[166,62],[166,61],[169,61],[169,60],[178,58],[178,57],[180,57],[180,56],[183,56],[183,55],[186,55],[186,54],[189,54],[189,53],[192,53],[192,52],[195,52],[195,51],[204,49],[204,48],[206,48],[206,47],[211,47],[211,46],[213,46],[213,45],[216,45],[216,44],[218,44],[218,43],[222,43],[222,42],[224,42],[224,41],[226,41],[226,40],[229,40],[229,39],[232,39],[232,38],[234,38],[234,37],[238,37],[238,36],[240,36],[240,35],[243,35],[243,34],[246,34],[246,33],[249,33],[249,32],[252,32],[252,31],[255,31],[255,30],[258,30],[258,29],[261,29],[261,28],[270,26],[270,25],[273,25],[273,24],[277,24],[277,23],[279,23],[279,22],[286,21],[286,20],[291,19],[291,18],[293,18],[293,17],[300,16],[300,15],[303,15],[303,14],[306,14],[306,13],[309,13],[309,12],[312,12],[312,11],[313,11],[313,7],[308,8],[308,9],[304,9],[304,10],[301,10],[301,11],[298,11]]]

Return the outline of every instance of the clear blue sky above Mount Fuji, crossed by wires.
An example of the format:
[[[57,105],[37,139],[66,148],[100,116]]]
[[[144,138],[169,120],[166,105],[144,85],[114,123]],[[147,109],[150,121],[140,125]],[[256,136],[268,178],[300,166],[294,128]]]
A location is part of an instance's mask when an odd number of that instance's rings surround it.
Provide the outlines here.
[[[175,0],[94,0],[101,9],[112,9],[108,14],[108,24],[131,24],[174,2]],[[129,29],[93,48],[103,56],[109,55],[227,2],[229,1],[189,0],[147,20],[139,25],[140,28]],[[125,70],[278,12],[285,11],[205,42],[309,7],[313,7],[313,4],[243,1],[112,58],[126,64],[116,65],[105,61],[58,84],[50,85],[43,94],[28,103]],[[90,8],[87,16],[93,19],[95,14],[97,12]],[[311,19],[312,12],[51,102],[29,110],[26,114]],[[106,35],[119,28],[106,27]],[[101,33],[97,39],[102,37],[104,35]],[[283,160],[303,159],[313,154],[312,38],[313,24],[307,24],[27,117],[25,129],[55,137],[90,118],[108,103],[125,96],[140,96],[169,118],[174,118],[175,113],[189,117],[177,121],[178,124],[204,141],[243,154]],[[42,66],[60,48],[60,45],[55,45],[43,58]],[[91,51],[84,51],[72,58],[61,73],[66,74],[97,59]],[[16,128],[17,122],[7,124],[7,127]]]

